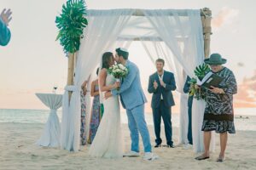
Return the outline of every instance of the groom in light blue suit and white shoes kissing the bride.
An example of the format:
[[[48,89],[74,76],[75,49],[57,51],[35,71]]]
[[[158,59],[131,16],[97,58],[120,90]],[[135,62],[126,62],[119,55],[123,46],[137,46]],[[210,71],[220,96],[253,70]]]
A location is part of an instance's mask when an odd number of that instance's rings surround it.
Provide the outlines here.
[[[117,63],[128,68],[128,75],[121,83],[119,91],[116,89],[105,94],[105,97],[120,95],[123,107],[128,116],[128,126],[131,132],[131,151],[125,156],[139,156],[139,133],[143,139],[144,160],[154,160],[158,156],[152,153],[150,136],[148,133],[147,122],[144,117],[144,104],[147,102],[141,85],[139,70],[137,65],[128,60],[129,53],[125,48],[117,48],[115,60]]]

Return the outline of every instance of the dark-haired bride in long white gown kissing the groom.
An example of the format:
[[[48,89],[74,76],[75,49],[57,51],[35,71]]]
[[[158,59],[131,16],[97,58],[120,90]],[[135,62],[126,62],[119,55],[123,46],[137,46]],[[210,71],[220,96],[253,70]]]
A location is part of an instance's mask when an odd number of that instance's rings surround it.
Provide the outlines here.
[[[101,96],[105,92],[119,87],[119,82],[108,74],[108,68],[114,64],[113,54],[106,52],[102,55],[102,70],[99,76]],[[89,155],[95,157],[123,157],[123,142],[121,137],[119,96],[103,99],[104,114],[97,129],[95,139],[90,145]]]

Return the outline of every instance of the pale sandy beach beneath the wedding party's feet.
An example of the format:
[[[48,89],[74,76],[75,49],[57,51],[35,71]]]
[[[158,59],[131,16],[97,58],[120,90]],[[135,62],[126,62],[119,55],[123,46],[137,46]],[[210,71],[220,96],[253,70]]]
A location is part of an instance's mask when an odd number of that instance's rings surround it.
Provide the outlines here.
[[[217,150],[207,161],[195,161],[192,149],[184,150],[183,147],[154,149],[160,156],[157,161],[143,161],[143,153],[137,158],[111,160],[91,158],[88,146],[81,147],[77,153],[39,147],[35,142],[43,128],[44,124],[0,123],[0,169],[256,169],[256,132],[253,131],[230,135],[226,161],[217,163],[218,135]],[[124,124],[123,129],[125,150],[129,150],[131,140],[127,125]],[[154,144],[153,127],[149,126],[149,130]],[[173,139],[177,144],[177,128],[174,128]]]

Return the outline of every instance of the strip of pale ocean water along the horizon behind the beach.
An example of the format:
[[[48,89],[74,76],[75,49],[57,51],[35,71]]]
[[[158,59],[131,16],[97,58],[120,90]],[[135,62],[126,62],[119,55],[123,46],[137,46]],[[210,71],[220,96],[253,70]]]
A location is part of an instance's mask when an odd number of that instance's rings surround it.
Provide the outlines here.
[[[256,131],[256,109],[242,108],[235,110],[236,130]],[[61,110],[57,112],[61,121]],[[18,109],[0,109],[0,122],[14,123],[45,123],[49,116],[47,110],[18,110]],[[146,122],[153,125],[152,113],[146,113]],[[121,122],[127,123],[125,112],[121,112]],[[172,126],[179,127],[179,115],[172,114]]]

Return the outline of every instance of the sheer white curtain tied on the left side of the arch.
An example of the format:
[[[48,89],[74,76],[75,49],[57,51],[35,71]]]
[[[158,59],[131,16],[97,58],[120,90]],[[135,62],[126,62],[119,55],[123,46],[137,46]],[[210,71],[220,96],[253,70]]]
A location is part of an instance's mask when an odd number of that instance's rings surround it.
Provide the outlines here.
[[[102,54],[109,51],[131,18],[134,9],[90,10],[87,14],[88,27],[78,54],[74,86],[66,88],[63,96],[61,123],[61,147],[78,151],[80,141],[80,86],[99,64]],[[68,91],[73,95],[68,105]]]

